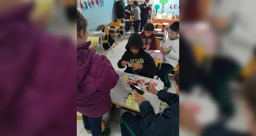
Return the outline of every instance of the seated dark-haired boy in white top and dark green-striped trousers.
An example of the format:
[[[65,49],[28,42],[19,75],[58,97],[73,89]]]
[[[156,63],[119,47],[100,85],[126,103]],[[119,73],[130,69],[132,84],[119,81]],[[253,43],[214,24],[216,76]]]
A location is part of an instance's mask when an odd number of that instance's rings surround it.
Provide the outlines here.
[[[168,30],[169,39],[160,48],[163,52],[163,64],[159,70],[158,76],[165,84],[164,90],[168,90],[171,87],[171,83],[168,78],[168,74],[178,65],[180,59],[180,22],[173,22]]]

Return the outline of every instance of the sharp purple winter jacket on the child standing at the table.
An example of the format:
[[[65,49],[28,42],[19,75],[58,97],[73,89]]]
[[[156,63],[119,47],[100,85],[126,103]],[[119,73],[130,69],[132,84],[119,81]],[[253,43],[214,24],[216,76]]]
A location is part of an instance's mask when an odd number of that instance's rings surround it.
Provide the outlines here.
[[[91,42],[77,46],[77,112],[100,117],[111,107],[110,90],[119,75],[108,58],[88,49]]]

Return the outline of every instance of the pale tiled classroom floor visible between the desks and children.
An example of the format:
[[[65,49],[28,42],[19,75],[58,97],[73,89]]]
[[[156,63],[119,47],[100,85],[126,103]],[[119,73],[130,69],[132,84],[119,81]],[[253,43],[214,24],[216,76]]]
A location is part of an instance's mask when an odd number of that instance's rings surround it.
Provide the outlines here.
[[[118,43],[119,45],[117,45],[115,48],[112,48],[113,53],[111,50],[104,50],[104,52],[109,52],[108,54],[106,54],[106,57],[108,57],[108,59],[110,60],[110,62],[112,63],[113,67],[115,70],[118,71],[123,71],[124,69],[119,69],[117,67],[117,62],[121,59],[122,55],[124,54],[124,52],[126,51],[125,46],[128,42],[128,38],[129,38],[129,34],[127,34],[126,39],[124,41],[121,42],[120,40],[120,36],[118,36]],[[115,46],[115,43],[113,44],[113,46]],[[113,47],[112,46],[112,47]],[[98,50],[99,52],[99,50]],[[173,77],[169,76],[170,82],[173,84]],[[169,88],[168,90],[169,92],[175,93],[175,87],[174,85],[171,86],[171,88]],[[113,119],[110,121],[110,123],[108,124],[108,127],[111,129],[111,134],[110,136],[121,136],[121,130],[120,130],[120,117],[122,116],[123,113],[125,113],[126,110],[125,109],[118,109],[113,115]],[[80,113],[77,113],[77,115],[81,115]],[[135,115],[135,114],[134,114]],[[81,115],[82,116],[82,115]],[[103,119],[106,121],[107,119],[109,119],[109,117],[107,115],[103,116]],[[77,120],[77,136],[91,136],[91,134],[87,134],[84,126],[83,126],[83,121],[82,120]]]

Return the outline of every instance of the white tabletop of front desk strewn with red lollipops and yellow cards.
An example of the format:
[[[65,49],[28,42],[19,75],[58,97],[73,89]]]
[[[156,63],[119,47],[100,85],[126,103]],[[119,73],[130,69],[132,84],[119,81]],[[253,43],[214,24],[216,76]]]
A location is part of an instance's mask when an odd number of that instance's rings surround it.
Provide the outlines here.
[[[110,91],[110,96],[111,96],[111,100],[112,103],[125,107],[125,108],[129,108],[133,111],[136,112],[140,112],[140,109],[137,108],[137,106],[135,104],[132,104],[132,106],[126,106],[126,100],[124,97],[128,97],[128,94],[132,91],[132,89],[129,87],[129,85],[126,85],[126,81],[124,81],[123,79],[123,75],[128,75],[129,79],[134,79],[134,78],[143,78],[143,80],[145,80],[145,82],[148,81],[152,81],[153,79],[150,78],[146,78],[146,77],[141,77],[139,75],[134,75],[134,74],[129,74],[129,73],[125,73],[125,72],[121,72],[121,71],[116,71],[116,73],[119,74],[119,80],[117,82],[117,85],[111,89]],[[163,82],[160,80],[156,80],[157,82],[157,87],[161,87],[161,89],[163,88]],[[154,108],[154,112],[155,114],[159,113],[159,108],[160,108],[160,100],[158,99],[158,97],[156,95],[151,94],[150,92],[148,92],[147,90],[145,90],[143,88],[143,90],[145,91],[145,94],[147,95],[145,97],[145,99],[147,101],[150,101],[152,107]]]

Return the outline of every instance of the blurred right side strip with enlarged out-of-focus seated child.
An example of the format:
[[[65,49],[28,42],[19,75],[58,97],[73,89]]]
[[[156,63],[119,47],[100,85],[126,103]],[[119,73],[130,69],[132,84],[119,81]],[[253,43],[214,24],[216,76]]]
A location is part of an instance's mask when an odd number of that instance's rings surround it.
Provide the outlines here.
[[[256,135],[255,0],[180,0],[180,135]],[[181,41],[181,40],[180,40]],[[251,82],[251,83],[248,83]],[[246,88],[246,89],[244,89]],[[246,91],[245,91],[246,90]],[[249,120],[249,121],[248,121]]]

